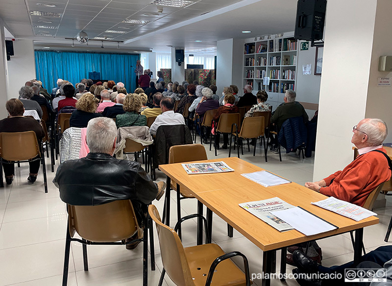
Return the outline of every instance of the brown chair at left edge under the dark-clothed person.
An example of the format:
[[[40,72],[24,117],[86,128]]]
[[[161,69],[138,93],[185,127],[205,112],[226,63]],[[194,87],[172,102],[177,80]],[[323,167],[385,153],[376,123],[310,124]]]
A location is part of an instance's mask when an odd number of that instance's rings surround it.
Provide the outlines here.
[[[39,156],[35,160],[41,160],[42,172],[44,173],[45,192],[48,192],[48,182],[46,178],[45,154],[43,153],[42,142],[38,143],[34,131],[25,132],[1,132],[0,133],[0,187],[4,187],[3,166],[10,162],[28,162]]]

